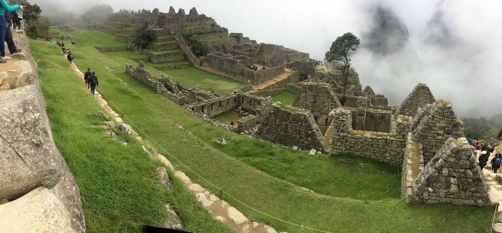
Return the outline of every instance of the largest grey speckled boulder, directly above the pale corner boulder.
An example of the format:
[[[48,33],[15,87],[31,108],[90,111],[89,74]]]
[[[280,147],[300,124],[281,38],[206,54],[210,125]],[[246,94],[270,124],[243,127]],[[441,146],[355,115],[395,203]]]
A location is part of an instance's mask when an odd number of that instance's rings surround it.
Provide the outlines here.
[[[0,199],[54,187],[64,161],[54,145],[40,90],[29,85],[0,92],[0,103]]]

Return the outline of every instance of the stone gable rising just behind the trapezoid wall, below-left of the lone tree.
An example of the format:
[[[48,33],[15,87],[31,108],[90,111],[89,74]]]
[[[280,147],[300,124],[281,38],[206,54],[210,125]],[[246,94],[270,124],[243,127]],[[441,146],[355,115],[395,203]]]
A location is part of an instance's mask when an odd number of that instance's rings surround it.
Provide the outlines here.
[[[341,107],[338,97],[327,83],[306,82],[300,85],[301,91],[293,106],[309,110],[321,132],[326,132],[329,127],[329,112]]]

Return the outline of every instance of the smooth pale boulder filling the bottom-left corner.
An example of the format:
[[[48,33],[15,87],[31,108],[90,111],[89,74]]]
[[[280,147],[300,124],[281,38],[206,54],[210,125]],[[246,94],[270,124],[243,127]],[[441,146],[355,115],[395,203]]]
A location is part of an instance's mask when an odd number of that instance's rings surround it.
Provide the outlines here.
[[[78,232],[64,204],[44,187],[0,205],[0,216],[0,233]]]

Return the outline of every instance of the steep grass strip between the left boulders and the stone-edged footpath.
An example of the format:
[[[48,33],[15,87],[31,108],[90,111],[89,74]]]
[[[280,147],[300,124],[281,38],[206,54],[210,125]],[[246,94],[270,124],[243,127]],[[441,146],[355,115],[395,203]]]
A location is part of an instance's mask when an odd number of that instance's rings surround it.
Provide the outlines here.
[[[105,129],[91,127],[103,111],[71,70],[59,48],[30,40],[38,63],[41,88],[54,140],[80,188],[88,232],[141,232],[142,225],[164,226],[169,201],[190,232],[233,232],[207,210],[168,169],[172,192],[156,177],[154,162],[136,140],[124,146],[111,140]],[[72,47],[74,49],[74,47]]]

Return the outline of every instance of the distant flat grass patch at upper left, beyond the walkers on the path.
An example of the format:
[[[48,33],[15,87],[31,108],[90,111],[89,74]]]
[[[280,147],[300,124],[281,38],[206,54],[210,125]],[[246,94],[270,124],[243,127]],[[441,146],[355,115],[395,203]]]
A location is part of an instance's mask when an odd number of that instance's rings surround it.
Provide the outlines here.
[[[91,46],[100,48],[121,48],[126,47],[126,43],[115,40],[115,36],[100,31],[75,30],[65,32],[66,35],[78,38],[77,46]]]

